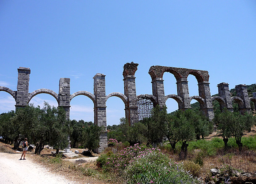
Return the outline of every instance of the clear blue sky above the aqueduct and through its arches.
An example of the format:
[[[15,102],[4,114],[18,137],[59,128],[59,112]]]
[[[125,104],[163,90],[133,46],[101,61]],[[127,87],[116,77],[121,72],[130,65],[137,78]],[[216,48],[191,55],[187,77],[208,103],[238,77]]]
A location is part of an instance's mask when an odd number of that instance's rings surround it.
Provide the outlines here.
[[[209,71],[211,94],[217,84],[256,83],[256,1],[0,1],[0,86],[17,90],[17,68],[30,67],[29,92],[58,93],[59,79],[71,79],[71,94],[93,93],[93,76],[106,75],[106,95],[124,93],[123,65],[138,63],[136,90],[152,94],[150,66]],[[163,76],[165,95],[177,94],[175,78]],[[190,96],[198,95],[188,77]],[[57,106],[48,94],[32,98]],[[195,100],[192,101],[196,102]],[[0,113],[14,110],[0,91]],[[125,116],[118,97],[107,101],[107,124]],[[167,100],[168,111],[178,108]],[[71,101],[71,119],[93,121],[93,102]]]

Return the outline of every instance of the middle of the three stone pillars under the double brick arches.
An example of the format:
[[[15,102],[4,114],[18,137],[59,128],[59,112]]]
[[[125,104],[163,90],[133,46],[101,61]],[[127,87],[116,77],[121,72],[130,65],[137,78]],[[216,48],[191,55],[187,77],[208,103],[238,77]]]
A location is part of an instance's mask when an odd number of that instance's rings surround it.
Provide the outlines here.
[[[179,109],[191,109],[189,92],[188,92],[188,80],[186,78],[180,78],[176,82],[177,84],[177,94],[182,98],[183,107],[179,106]]]

